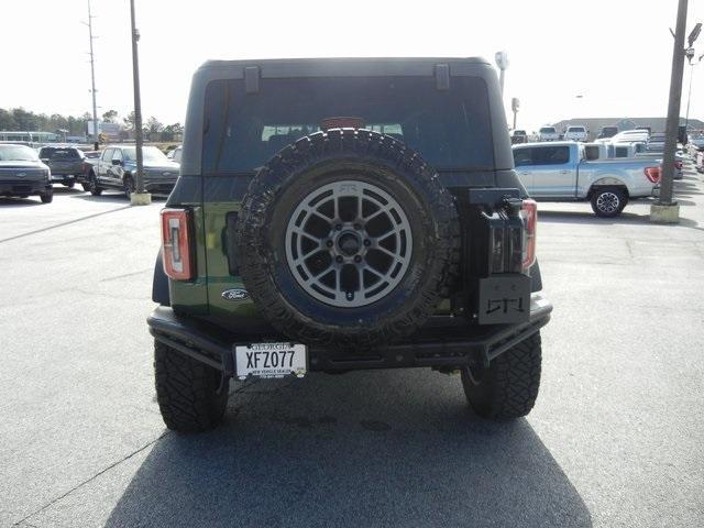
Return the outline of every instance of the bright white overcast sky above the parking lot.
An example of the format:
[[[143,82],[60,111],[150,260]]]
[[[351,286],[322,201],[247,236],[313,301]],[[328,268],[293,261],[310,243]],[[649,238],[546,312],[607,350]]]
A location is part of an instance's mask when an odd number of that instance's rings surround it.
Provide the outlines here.
[[[0,108],[90,111],[88,0],[4,0]],[[676,0],[135,0],[144,120],[185,118],[210,58],[483,56],[508,53],[518,128],[572,118],[667,114]],[[704,22],[690,0],[688,33]],[[98,113],[133,108],[129,0],[91,0]],[[704,33],[695,44],[704,53]],[[692,68],[685,65],[681,116]],[[690,117],[704,119],[704,61]],[[578,97],[581,96],[581,97]]]

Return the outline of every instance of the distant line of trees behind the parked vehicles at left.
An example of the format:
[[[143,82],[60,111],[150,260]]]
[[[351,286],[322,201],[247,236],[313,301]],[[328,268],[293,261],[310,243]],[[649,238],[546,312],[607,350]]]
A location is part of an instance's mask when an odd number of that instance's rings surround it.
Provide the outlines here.
[[[102,121],[120,125],[120,139],[127,140],[134,132],[134,112],[124,118],[116,110],[108,110],[102,116]],[[0,108],[0,130],[8,131],[40,131],[54,132],[66,135],[85,135],[86,122],[91,121],[92,116],[85,112],[82,116],[63,116],[61,113],[34,113],[23,108]],[[184,132],[180,123],[164,124],[155,117],[142,122],[142,131],[147,141],[175,141],[178,134]],[[59,132],[62,131],[62,132]]]

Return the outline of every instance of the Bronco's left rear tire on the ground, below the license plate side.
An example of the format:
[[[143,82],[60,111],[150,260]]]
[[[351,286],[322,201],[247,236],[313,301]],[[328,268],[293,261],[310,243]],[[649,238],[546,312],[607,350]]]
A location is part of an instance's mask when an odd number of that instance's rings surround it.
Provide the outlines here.
[[[178,432],[216,428],[228,406],[228,385],[220,394],[220,371],[154,341],[156,400],[166,427]]]

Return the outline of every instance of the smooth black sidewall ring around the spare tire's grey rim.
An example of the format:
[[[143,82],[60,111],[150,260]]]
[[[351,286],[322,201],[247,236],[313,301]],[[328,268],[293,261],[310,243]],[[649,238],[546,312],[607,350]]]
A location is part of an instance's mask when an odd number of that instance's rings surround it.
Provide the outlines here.
[[[399,177],[399,173],[405,174]],[[422,283],[428,279],[433,262],[437,227],[417,178],[413,176],[380,160],[364,157],[323,160],[293,174],[268,207],[271,212],[266,221],[268,276],[289,309],[326,324],[364,324],[398,312],[409,298],[424,289]],[[413,237],[410,263],[400,283],[382,299],[358,308],[330,306],[306,293],[294,277],[285,253],[286,227],[300,201],[314,189],[344,179],[375,185],[393,196],[408,218]]]

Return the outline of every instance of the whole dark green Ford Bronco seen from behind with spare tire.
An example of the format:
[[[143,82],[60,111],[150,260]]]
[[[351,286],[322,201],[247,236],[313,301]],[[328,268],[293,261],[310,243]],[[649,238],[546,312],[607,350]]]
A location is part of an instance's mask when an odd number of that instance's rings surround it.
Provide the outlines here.
[[[148,318],[167,427],[216,427],[230,378],[361,369],[459,372],[480,416],[527,415],[536,223],[486,61],[206,63]]]

